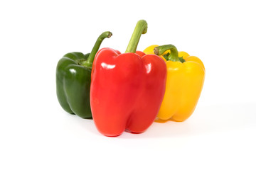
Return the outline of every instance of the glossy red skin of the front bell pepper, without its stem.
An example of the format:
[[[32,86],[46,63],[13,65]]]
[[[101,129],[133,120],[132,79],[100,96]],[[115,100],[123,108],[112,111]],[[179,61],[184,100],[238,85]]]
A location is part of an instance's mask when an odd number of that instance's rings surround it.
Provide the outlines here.
[[[92,66],[90,106],[97,130],[118,136],[144,132],[154,122],[166,86],[166,63],[144,52],[110,48],[97,52]]]

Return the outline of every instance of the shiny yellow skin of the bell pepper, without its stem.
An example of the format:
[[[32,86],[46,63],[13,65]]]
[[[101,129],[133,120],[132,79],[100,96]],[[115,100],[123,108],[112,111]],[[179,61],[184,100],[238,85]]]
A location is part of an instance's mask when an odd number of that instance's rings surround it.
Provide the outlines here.
[[[154,54],[151,45],[144,50],[146,54]],[[191,116],[196,108],[203,89],[205,67],[203,62],[186,52],[178,52],[186,62],[166,61],[167,79],[166,92],[157,117],[161,120],[181,122]]]

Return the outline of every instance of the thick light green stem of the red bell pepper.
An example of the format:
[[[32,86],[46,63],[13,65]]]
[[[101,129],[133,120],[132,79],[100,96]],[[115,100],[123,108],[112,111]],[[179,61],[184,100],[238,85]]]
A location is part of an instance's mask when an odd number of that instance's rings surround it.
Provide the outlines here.
[[[140,20],[137,22],[136,27],[134,28],[134,32],[132,33],[132,38],[129,41],[129,44],[127,46],[127,52],[136,52],[138,43],[139,43],[139,38],[141,37],[142,34],[145,34],[147,31],[147,23],[144,20]]]

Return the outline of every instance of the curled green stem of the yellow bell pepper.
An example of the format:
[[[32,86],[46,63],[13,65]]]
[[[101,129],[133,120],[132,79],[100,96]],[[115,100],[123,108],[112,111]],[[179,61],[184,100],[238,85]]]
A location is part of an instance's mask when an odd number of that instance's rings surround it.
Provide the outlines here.
[[[171,50],[171,54],[166,57],[166,60],[173,61],[173,62],[181,62],[180,58],[178,57],[178,50],[174,45],[161,45],[154,48],[155,55],[163,55],[164,52],[167,50]]]

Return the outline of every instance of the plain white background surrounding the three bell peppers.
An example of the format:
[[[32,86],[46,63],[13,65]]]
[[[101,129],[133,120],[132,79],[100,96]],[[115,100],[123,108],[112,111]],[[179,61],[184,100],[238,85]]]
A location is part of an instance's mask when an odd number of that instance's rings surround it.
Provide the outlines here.
[[[254,1],[1,1],[0,169],[256,169]],[[196,111],[183,123],[105,137],[55,94],[67,52],[174,44],[206,67]]]

